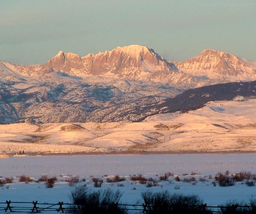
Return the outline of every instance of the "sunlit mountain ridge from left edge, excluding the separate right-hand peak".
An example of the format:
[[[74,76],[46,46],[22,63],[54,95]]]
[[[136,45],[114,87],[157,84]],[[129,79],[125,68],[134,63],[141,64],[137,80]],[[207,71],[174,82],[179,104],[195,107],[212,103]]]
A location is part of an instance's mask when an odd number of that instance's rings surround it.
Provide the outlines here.
[[[3,62],[2,64],[26,77],[35,77],[45,71],[53,70],[77,77],[104,76],[154,81],[180,88],[193,88],[206,84],[204,79],[178,71],[174,63],[169,63],[153,49],[139,45],[117,47],[112,51],[99,52],[96,55],[88,54],[84,57],[60,51],[44,65],[23,66]]]

